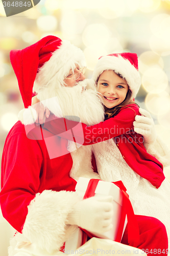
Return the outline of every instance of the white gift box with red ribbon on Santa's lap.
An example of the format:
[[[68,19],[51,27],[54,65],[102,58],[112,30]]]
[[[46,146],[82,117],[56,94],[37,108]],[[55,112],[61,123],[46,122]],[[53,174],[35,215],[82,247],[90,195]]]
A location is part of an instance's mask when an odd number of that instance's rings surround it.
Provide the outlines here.
[[[80,177],[78,180],[78,183],[76,185],[76,192],[79,194],[79,196],[83,199],[84,195],[87,191],[87,187],[89,185],[90,179],[88,178],[82,178]],[[103,238],[103,239],[111,239],[113,241],[120,242],[122,239],[122,236],[124,234],[126,225],[127,225],[127,216],[124,219],[124,223],[121,223],[123,225],[123,232],[120,234],[119,241],[116,240],[117,233],[119,229],[120,224],[120,218],[122,213],[122,206],[123,206],[123,191],[112,182],[102,181],[100,180],[98,184],[96,185],[95,191],[94,191],[95,197],[101,197],[101,196],[112,196],[113,197],[113,217],[112,217],[112,224],[113,228],[105,233],[97,233],[93,232],[92,235],[94,237]],[[131,202],[134,202],[133,199],[131,199]],[[132,207],[132,206],[131,206]],[[133,210],[132,210],[133,211]],[[88,230],[87,230],[88,231]],[[82,230],[80,228],[77,228],[76,232],[72,234],[72,236],[65,242],[65,250],[73,250],[75,251],[77,248],[79,248],[82,245]]]

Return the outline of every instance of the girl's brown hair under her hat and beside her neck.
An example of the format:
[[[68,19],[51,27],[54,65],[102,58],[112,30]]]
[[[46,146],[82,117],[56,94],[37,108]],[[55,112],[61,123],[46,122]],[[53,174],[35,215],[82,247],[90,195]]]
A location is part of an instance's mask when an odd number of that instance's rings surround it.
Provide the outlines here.
[[[113,70],[114,72],[114,70]],[[116,75],[118,75],[120,78],[123,78],[122,75],[120,75],[119,73],[115,73]],[[99,76],[100,77],[100,76]],[[96,80],[96,84],[98,84],[98,80],[99,80],[99,77],[98,79]],[[125,79],[125,78],[123,78]],[[127,95],[126,95],[126,98],[124,99],[124,101],[122,103],[120,103],[119,105],[117,106],[114,106],[112,109],[108,109],[106,108],[106,106],[104,105],[104,109],[105,109],[105,120],[109,119],[110,117],[114,117],[116,116],[120,109],[125,107],[126,105],[128,104],[136,104],[138,105],[137,103],[135,103],[133,100],[132,100],[132,92],[130,90],[130,88],[128,88],[128,92],[127,92]],[[130,108],[130,107],[127,107],[127,108]]]

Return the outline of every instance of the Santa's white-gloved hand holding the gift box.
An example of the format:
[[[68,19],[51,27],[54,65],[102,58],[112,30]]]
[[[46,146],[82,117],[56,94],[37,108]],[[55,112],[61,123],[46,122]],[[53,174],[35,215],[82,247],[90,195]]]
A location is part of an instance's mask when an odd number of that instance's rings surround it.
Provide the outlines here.
[[[90,197],[78,202],[68,214],[67,224],[78,225],[88,231],[104,233],[112,229],[113,198]]]

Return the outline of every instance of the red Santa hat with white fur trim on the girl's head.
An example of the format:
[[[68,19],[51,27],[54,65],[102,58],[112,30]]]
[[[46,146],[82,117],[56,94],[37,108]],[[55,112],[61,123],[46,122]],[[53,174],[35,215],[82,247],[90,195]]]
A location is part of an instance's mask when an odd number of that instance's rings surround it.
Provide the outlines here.
[[[92,78],[95,81],[98,80],[105,70],[113,70],[126,79],[132,92],[132,98],[135,98],[141,83],[136,53],[115,53],[100,57],[94,68]]]

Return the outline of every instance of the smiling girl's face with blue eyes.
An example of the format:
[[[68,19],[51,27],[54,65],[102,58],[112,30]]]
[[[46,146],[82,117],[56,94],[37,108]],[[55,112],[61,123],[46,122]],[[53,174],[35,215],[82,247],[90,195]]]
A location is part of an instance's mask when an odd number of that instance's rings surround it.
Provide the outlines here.
[[[128,84],[114,71],[105,70],[99,77],[97,90],[102,94],[103,104],[111,109],[124,101],[128,92]]]

